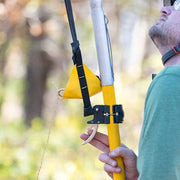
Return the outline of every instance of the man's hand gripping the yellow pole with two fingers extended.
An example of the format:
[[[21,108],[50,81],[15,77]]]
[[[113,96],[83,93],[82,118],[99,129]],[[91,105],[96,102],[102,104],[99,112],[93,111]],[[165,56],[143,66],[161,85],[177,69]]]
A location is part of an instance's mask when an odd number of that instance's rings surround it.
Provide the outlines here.
[[[92,133],[92,130],[88,130],[88,134],[81,134],[80,138],[86,140]],[[117,147],[113,151],[109,150],[108,136],[97,132],[94,139],[89,142],[92,146],[103,151],[99,155],[99,160],[104,163],[104,170],[107,174],[113,178],[113,173],[121,172],[121,168],[118,167],[117,161],[114,160],[116,157],[122,157],[124,166],[126,180],[137,180],[139,174],[136,168],[137,156],[128,147],[122,144],[121,147]]]

